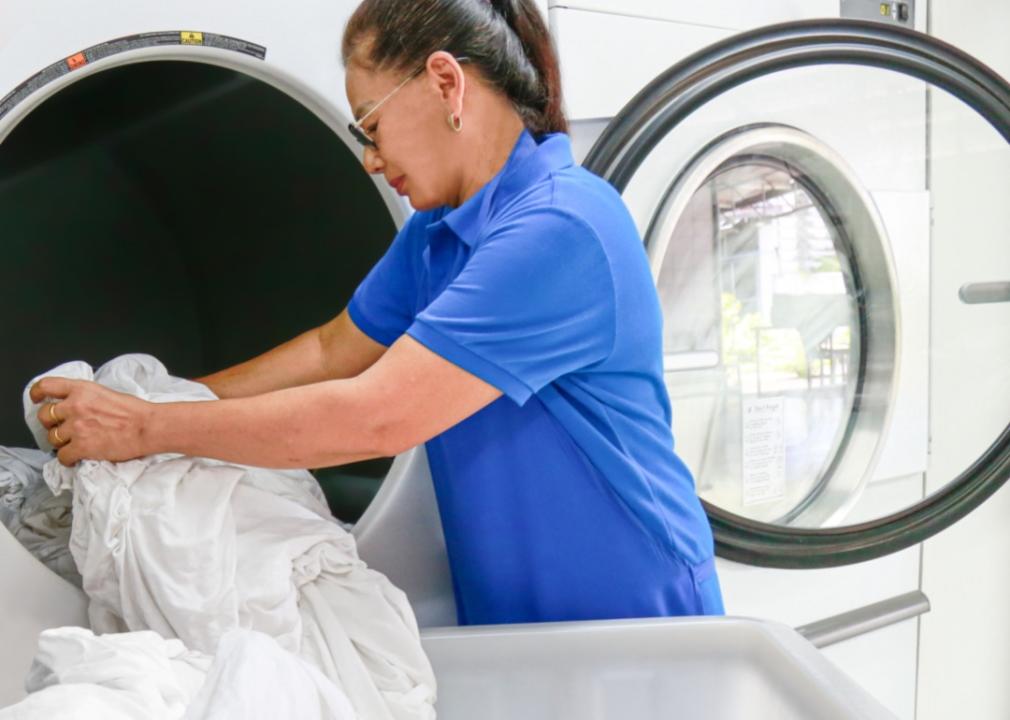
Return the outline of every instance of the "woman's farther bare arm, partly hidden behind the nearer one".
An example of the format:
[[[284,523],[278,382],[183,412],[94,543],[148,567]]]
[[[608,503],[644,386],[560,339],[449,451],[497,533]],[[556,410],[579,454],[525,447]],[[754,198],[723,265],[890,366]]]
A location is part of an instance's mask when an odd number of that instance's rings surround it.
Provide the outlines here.
[[[344,310],[325,325],[262,355],[219,373],[197,378],[219,398],[246,398],[275,390],[352,378],[386,351],[358,329]]]

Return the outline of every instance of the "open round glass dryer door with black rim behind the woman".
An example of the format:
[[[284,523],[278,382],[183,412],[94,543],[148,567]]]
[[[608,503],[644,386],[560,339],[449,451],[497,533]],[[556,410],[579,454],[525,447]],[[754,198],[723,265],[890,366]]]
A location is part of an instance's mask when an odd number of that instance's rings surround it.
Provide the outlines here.
[[[1010,86],[934,38],[787,23],[643,89],[585,165],[664,311],[719,554],[893,552],[1010,475]]]

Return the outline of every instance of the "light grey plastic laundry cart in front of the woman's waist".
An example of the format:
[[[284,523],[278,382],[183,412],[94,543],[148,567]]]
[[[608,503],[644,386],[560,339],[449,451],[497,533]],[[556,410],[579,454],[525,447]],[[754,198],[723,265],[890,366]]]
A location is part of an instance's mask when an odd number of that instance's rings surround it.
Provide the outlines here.
[[[795,630],[743,618],[423,633],[440,720],[893,718]]]

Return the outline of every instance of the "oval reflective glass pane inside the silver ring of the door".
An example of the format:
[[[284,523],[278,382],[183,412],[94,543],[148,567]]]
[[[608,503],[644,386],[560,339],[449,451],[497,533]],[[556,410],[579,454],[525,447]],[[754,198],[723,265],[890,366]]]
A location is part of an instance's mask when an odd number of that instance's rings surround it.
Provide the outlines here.
[[[679,450],[724,510],[788,523],[829,474],[858,381],[846,246],[813,184],[765,157],[723,164],[676,225],[658,279],[667,386]]]

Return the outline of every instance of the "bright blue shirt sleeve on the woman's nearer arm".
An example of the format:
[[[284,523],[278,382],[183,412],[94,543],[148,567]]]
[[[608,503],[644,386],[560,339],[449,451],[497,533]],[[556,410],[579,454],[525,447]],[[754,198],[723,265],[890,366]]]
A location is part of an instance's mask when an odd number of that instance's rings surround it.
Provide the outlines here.
[[[485,238],[407,334],[522,405],[610,354],[615,304],[596,232],[542,208]]]

